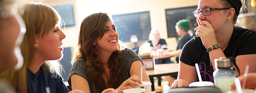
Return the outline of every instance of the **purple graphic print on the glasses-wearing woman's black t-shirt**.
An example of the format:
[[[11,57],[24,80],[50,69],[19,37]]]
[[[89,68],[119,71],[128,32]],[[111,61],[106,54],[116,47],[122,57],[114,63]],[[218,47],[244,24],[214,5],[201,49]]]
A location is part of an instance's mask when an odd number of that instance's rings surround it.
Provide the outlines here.
[[[199,71],[200,71],[200,74],[201,74],[202,81],[211,81],[211,82],[213,82],[213,72],[214,72],[214,70],[213,70],[212,66],[211,66],[211,70],[207,71],[207,67],[206,67],[205,63],[200,62],[198,64],[198,67],[199,67]]]

